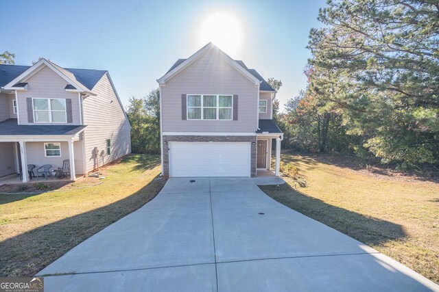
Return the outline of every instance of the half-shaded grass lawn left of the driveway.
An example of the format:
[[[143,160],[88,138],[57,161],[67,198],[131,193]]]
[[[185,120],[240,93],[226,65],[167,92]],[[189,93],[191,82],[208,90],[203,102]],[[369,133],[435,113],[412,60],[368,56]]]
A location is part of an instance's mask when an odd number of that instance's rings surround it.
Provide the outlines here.
[[[0,194],[0,276],[34,276],[99,230],[158,194],[159,155],[131,155],[60,191]],[[84,187],[84,188],[81,188]]]

